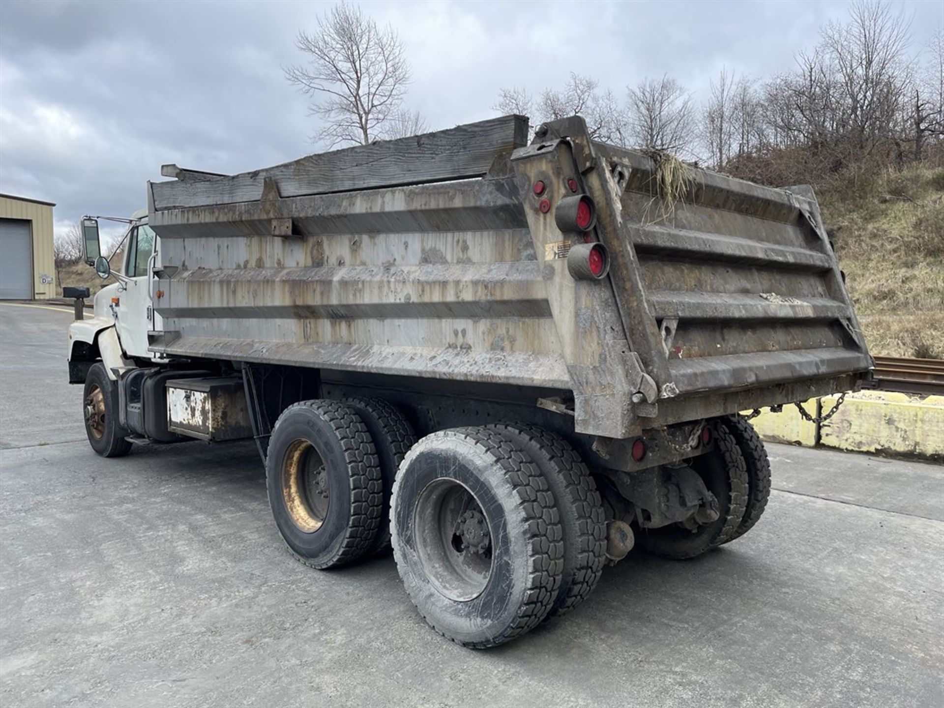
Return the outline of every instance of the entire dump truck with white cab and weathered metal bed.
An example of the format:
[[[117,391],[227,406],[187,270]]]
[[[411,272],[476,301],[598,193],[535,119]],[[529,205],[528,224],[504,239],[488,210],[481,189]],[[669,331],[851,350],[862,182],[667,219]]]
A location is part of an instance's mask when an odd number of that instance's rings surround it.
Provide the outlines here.
[[[633,546],[750,531],[770,468],[739,412],[872,365],[813,190],[578,116],[530,136],[513,115],[238,175],[164,165],[69,331],[94,451],[254,443],[298,560],[392,546],[470,648],[567,614]]]

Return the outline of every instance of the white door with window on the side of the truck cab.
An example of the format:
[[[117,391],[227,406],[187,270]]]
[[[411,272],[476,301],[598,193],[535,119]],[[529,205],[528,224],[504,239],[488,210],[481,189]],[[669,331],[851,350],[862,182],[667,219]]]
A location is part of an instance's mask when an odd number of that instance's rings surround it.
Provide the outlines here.
[[[156,329],[152,281],[157,238],[146,224],[131,228],[127,236],[124,260],[124,291],[113,306],[118,338],[130,357],[153,358],[147,350],[147,332]]]

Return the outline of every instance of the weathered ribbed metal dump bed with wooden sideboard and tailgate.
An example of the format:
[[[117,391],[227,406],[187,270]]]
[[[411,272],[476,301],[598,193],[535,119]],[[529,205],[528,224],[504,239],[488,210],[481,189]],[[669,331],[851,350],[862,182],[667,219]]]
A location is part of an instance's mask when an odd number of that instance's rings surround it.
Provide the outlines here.
[[[810,188],[688,167],[670,198],[665,156],[579,118],[527,133],[508,116],[231,177],[171,167],[148,191],[151,348],[531,386],[611,437],[865,376]],[[559,213],[581,194],[586,233]],[[574,269],[584,242],[605,278]]]

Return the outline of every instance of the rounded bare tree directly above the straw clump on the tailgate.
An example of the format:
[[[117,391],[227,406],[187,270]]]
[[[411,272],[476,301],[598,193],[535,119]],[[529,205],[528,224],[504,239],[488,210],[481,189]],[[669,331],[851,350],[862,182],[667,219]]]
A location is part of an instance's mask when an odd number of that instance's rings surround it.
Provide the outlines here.
[[[695,125],[691,93],[668,75],[645,78],[628,93],[628,127],[634,144],[673,153],[691,152]]]

